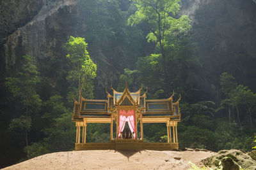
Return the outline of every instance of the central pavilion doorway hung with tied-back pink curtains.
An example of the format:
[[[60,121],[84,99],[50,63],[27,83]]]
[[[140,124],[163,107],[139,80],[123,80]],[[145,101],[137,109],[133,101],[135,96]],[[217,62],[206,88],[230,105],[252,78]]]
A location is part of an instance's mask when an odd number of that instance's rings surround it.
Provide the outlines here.
[[[119,110],[118,139],[136,139],[134,110]]]

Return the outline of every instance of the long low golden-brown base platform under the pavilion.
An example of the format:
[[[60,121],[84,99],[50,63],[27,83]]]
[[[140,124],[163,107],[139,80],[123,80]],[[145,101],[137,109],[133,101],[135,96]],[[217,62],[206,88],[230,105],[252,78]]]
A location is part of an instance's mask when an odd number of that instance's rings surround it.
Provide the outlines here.
[[[118,139],[109,143],[76,143],[76,150],[178,150],[179,143],[144,143],[138,139]]]

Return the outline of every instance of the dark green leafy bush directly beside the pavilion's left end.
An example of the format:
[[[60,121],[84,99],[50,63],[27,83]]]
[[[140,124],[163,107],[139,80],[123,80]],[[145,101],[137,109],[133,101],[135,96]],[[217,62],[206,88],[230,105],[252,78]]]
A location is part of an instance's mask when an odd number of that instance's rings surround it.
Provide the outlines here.
[[[65,151],[74,148],[76,128],[72,119],[72,111],[65,108],[61,96],[52,96],[45,103],[46,112],[43,118],[47,125],[43,129],[46,138],[44,143],[49,152]]]

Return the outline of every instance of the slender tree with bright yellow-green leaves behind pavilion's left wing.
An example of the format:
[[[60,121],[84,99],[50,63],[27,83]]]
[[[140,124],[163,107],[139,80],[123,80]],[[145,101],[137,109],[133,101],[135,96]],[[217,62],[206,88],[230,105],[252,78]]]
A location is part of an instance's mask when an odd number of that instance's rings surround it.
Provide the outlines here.
[[[93,79],[96,76],[97,65],[93,63],[86,48],[88,44],[84,38],[70,36],[65,46],[70,59],[72,69],[68,71],[67,80],[76,81],[72,90],[68,93],[68,101],[77,99],[80,102],[81,95],[92,98]]]

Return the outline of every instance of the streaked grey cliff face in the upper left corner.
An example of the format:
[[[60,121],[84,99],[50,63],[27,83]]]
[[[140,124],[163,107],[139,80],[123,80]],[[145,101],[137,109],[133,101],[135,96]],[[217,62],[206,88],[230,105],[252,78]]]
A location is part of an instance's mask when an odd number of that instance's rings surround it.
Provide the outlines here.
[[[30,6],[36,6],[34,1],[27,2],[28,10],[30,10]],[[6,72],[12,71],[13,67],[19,67],[19,60],[24,54],[35,56],[39,60],[59,54],[63,42],[67,41],[70,34],[74,34],[74,27],[77,23],[76,1],[56,1],[56,4],[52,6],[38,3],[36,7],[35,16],[30,16],[28,13],[27,20],[33,17],[28,23],[17,29],[11,27],[12,22],[9,24],[10,30],[16,30],[4,39],[1,46]],[[26,15],[26,10],[22,14]],[[17,20],[20,23],[24,22],[22,17]]]

